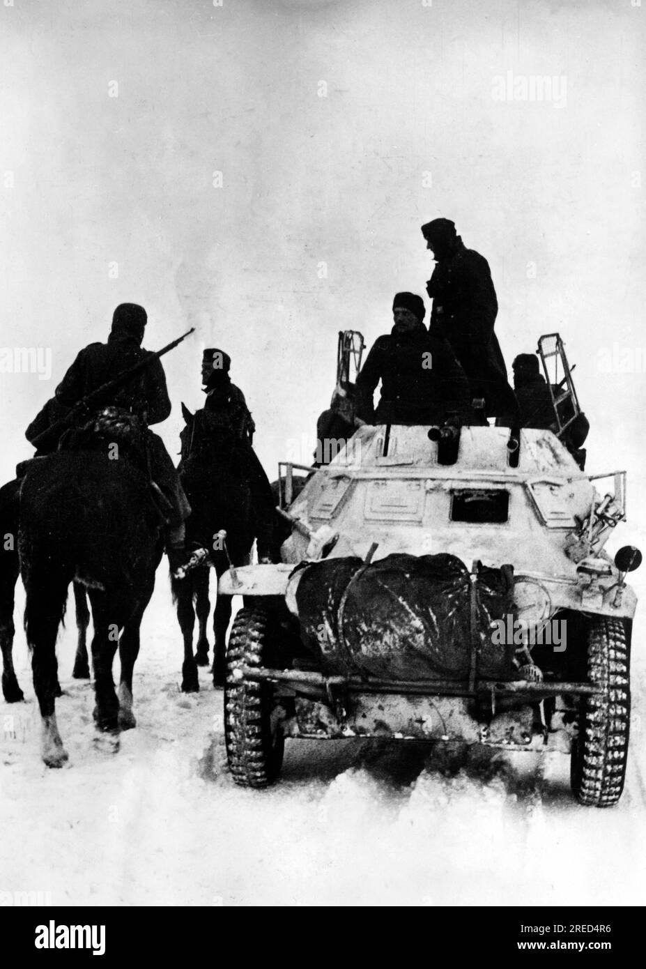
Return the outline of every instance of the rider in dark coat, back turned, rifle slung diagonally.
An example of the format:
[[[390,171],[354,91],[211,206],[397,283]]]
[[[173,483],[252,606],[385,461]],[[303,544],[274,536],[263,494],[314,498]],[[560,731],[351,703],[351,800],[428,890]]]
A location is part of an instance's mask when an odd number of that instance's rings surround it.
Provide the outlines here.
[[[147,321],[146,311],[136,303],[121,303],[112,316],[107,343],[90,343],[84,347],[68,369],[45,408],[27,428],[25,436],[32,441],[47,423],[66,414],[88,393],[135,366],[140,360],[154,355],[141,347]],[[148,424],[166,421],[170,413],[166,375],[160,359],[153,359],[133,380],[114,391],[101,407],[114,407],[138,419],[143,428],[143,440],[150,461],[152,480],[161,488],[169,503],[169,557],[171,566],[183,560],[184,521],[191,508],[179,482],[175,466],[164,442],[148,428]],[[91,415],[87,416],[88,418]],[[54,419],[54,420],[52,420]],[[52,449],[55,442],[52,443]]]

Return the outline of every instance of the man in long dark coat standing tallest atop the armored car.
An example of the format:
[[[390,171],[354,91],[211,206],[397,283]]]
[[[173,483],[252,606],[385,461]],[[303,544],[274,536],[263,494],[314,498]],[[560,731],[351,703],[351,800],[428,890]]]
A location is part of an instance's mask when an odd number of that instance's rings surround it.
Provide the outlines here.
[[[486,417],[517,422],[518,409],[494,333],[498,300],[489,265],[467,249],[449,219],[421,227],[436,262],[426,291],[433,299],[429,330],[446,337],[466,373],[472,400],[484,398]]]

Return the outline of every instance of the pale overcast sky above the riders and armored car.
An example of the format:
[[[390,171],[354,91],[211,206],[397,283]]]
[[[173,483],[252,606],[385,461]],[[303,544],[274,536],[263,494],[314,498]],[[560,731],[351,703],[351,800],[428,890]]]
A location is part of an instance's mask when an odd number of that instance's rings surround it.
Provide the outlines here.
[[[372,343],[396,291],[425,297],[443,215],[489,261],[509,371],[560,330],[591,470],[643,485],[646,0],[8,2],[0,345],[52,356],[0,375],[4,480],[123,300],[150,349],[198,327],[166,359],[171,453],[215,344],[274,477],[337,330]]]

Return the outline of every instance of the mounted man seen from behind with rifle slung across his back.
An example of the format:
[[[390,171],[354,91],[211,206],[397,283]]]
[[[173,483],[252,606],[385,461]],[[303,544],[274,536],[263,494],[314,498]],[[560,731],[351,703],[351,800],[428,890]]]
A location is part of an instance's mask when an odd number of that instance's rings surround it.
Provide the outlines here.
[[[38,442],[47,427],[69,412],[79,401],[109,380],[132,369],[140,361],[154,355],[141,347],[147,322],[146,311],[136,303],[121,303],[114,310],[107,343],[90,343],[84,347],[56,388],[52,400],[47,401],[25,432],[28,441],[39,446],[38,453],[56,447],[77,449],[92,431],[129,444],[131,454],[138,457],[149,472],[153,489],[158,496],[162,514],[168,526],[167,550],[171,569],[183,564],[184,521],[191,508],[170,459],[164,442],[149,429],[149,424],[166,421],[170,413],[169,393],[164,367],[159,359],[140,369],[137,376],[123,383],[101,401],[101,413],[87,413],[83,426],[62,431],[49,438],[46,446]]]

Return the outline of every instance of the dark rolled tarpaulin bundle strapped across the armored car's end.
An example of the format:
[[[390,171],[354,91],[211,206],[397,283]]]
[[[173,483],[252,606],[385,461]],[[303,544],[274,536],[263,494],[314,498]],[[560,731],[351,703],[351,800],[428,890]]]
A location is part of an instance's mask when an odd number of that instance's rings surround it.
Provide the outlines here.
[[[513,645],[492,641],[494,620],[513,610],[510,566],[479,566],[472,577],[448,554],[392,554],[369,565],[331,558],[303,568],[295,596],[303,641],[323,672],[513,678]]]

